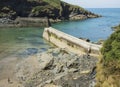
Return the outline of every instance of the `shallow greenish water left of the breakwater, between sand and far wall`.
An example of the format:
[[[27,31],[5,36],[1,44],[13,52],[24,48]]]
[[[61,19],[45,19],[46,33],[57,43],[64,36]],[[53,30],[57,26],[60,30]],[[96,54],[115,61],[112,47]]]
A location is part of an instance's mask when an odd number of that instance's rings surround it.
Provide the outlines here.
[[[42,38],[43,28],[0,29],[0,59],[10,56],[27,57],[47,50]]]

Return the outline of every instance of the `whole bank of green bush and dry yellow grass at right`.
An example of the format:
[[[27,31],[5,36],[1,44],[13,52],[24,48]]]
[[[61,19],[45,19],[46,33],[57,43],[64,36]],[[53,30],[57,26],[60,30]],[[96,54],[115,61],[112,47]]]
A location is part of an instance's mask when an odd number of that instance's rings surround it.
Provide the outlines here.
[[[120,87],[120,27],[116,28],[101,49],[96,87]]]

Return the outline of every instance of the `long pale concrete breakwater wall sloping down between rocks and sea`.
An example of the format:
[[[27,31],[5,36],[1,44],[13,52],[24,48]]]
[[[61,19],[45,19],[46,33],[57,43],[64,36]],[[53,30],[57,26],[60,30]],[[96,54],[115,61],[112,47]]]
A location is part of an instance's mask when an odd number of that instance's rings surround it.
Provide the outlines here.
[[[43,38],[53,43],[54,45],[69,50],[77,54],[90,53],[99,55],[101,45],[86,42],[52,27],[45,28]]]

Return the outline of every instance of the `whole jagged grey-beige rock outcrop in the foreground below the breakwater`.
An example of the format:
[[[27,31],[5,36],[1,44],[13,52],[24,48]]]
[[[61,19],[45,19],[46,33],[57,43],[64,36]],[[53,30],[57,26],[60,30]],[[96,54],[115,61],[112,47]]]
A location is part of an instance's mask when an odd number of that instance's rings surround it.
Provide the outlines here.
[[[97,61],[90,55],[52,48],[17,64],[15,77],[19,87],[94,87]]]

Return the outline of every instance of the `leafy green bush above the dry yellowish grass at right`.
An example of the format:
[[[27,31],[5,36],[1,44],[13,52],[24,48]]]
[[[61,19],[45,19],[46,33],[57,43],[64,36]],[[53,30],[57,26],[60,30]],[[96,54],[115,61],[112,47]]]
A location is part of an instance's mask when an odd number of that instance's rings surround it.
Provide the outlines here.
[[[104,43],[101,50],[106,62],[117,60],[120,62],[120,30],[113,33]]]

